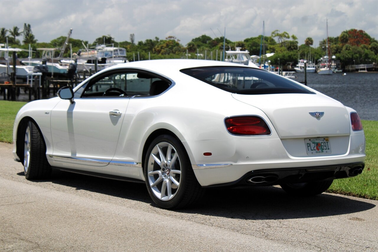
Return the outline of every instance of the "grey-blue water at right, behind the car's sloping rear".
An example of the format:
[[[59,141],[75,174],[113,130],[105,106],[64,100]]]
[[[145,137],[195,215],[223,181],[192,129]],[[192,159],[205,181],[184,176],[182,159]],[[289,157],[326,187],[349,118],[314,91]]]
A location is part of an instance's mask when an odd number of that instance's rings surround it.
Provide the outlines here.
[[[304,73],[295,73],[304,82]],[[307,74],[307,85],[355,109],[363,120],[378,121],[378,73]]]

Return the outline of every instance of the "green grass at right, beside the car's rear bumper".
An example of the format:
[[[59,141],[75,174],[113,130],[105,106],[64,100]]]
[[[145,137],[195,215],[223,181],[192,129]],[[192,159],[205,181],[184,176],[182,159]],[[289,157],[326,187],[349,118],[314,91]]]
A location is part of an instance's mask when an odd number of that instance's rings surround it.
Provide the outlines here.
[[[378,199],[378,121],[364,121],[366,138],[365,168],[354,178],[336,179],[327,192]]]

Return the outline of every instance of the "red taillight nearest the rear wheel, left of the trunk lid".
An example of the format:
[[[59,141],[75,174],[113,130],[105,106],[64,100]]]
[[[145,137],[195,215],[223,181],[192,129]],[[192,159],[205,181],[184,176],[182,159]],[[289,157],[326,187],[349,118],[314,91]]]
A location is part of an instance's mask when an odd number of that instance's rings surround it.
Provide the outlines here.
[[[235,116],[225,119],[226,128],[232,135],[270,135],[266,122],[258,116]]]

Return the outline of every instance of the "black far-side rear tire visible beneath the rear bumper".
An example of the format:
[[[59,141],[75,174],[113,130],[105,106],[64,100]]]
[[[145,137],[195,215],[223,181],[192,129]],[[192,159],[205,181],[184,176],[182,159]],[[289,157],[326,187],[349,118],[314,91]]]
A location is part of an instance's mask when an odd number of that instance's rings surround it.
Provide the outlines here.
[[[295,196],[313,196],[318,195],[327,190],[333,182],[333,179],[326,181],[316,181],[297,184],[280,185],[285,192]]]

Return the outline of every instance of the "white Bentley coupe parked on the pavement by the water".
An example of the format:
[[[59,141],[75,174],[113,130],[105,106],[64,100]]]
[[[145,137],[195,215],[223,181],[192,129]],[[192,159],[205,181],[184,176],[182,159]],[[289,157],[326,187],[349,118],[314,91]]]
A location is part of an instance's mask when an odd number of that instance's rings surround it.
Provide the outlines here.
[[[364,169],[355,110],[301,83],[235,63],[148,60],[112,66],[14,124],[27,179],[51,169],[146,183],[163,208],[206,187],[280,185],[324,192]]]

